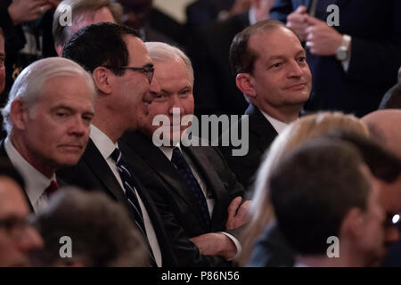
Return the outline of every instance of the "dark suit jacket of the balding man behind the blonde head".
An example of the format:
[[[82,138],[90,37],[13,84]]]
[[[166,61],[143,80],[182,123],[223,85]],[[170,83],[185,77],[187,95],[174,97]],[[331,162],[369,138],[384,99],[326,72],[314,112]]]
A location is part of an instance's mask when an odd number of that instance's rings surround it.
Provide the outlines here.
[[[228,166],[233,169],[240,183],[244,185],[247,191],[250,191],[261,159],[263,159],[264,153],[277,136],[277,132],[254,105],[250,104],[245,111],[245,115],[249,116],[248,153],[245,156],[233,156],[233,146],[222,146],[220,150],[225,155]],[[238,128],[240,137],[243,137],[246,134],[241,134],[241,124],[243,124],[243,118],[239,121],[238,125],[234,125],[232,128]]]

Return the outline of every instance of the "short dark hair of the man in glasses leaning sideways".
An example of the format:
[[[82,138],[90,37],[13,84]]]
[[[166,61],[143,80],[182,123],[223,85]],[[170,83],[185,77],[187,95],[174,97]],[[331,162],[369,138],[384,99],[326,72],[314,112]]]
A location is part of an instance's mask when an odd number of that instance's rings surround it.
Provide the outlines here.
[[[64,45],[62,56],[78,62],[92,73],[99,66],[107,66],[114,74],[123,75],[129,60],[125,36],[138,37],[133,28],[113,24],[99,23],[80,29]]]

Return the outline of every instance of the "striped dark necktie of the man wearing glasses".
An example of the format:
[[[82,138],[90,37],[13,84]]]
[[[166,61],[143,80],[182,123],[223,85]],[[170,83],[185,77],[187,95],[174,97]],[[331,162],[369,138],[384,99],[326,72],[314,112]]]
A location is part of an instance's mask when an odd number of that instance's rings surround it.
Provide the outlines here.
[[[119,151],[119,149],[115,149],[111,153],[110,157],[111,159],[114,160],[114,162],[116,163],[116,167],[119,170],[119,176],[124,185],[124,189],[126,190],[126,197],[128,199],[129,205],[131,206],[134,212],[135,222],[139,230],[142,232],[143,236],[146,238],[146,230],[143,222],[143,214],[141,208],[139,207],[139,201],[134,190],[134,187],[137,185],[137,183],[135,183],[135,178],[128,170],[127,164],[124,161],[122,153],[121,151]]]

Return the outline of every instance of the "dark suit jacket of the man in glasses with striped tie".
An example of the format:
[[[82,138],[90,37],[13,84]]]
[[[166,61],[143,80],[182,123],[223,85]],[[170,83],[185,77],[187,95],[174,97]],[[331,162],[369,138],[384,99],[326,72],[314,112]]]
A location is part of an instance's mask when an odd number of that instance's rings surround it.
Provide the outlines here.
[[[119,144],[120,151],[126,160],[131,160],[130,150],[123,144]],[[105,191],[112,199],[119,201],[124,205],[131,217],[135,221],[132,208],[129,207],[124,191],[121,189],[118,180],[113,175],[107,162],[102,158],[102,154],[89,140],[84,155],[75,167],[64,168],[57,173],[64,181],[77,185],[86,190]],[[139,182],[138,182],[139,183]],[[151,197],[145,191],[145,188],[139,183],[139,187],[135,188],[139,196],[143,200],[143,204],[151,218],[151,224],[156,232],[160,245],[163,266],[176,266],[176,257],[168,242],[167,234],[164,230],[160,216]],[[135,224],[135,223],[134,223]]]

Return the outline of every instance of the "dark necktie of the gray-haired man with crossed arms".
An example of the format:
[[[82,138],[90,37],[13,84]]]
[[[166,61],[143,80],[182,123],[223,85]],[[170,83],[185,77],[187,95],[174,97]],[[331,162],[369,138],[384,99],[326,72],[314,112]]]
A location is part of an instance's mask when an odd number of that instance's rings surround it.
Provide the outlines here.
[[[206,202],[205,195],[201,190],[201,186],[199,185],[198,181],[193,175],[191,167],[189,167],[188,163],[184,159],[184,156],[181,153],[180,149],[175,148],[173,150],[173,158],[171,159],[171,162],[176,166],[176,169],[178,170],[179,174],[183,177],[185,183],[191,189],[193,196],[198,202],[198,206],[201,208],[203,222],[205,223],[207,229],[209,230],[211,221],[210,221],[208,203]]]

